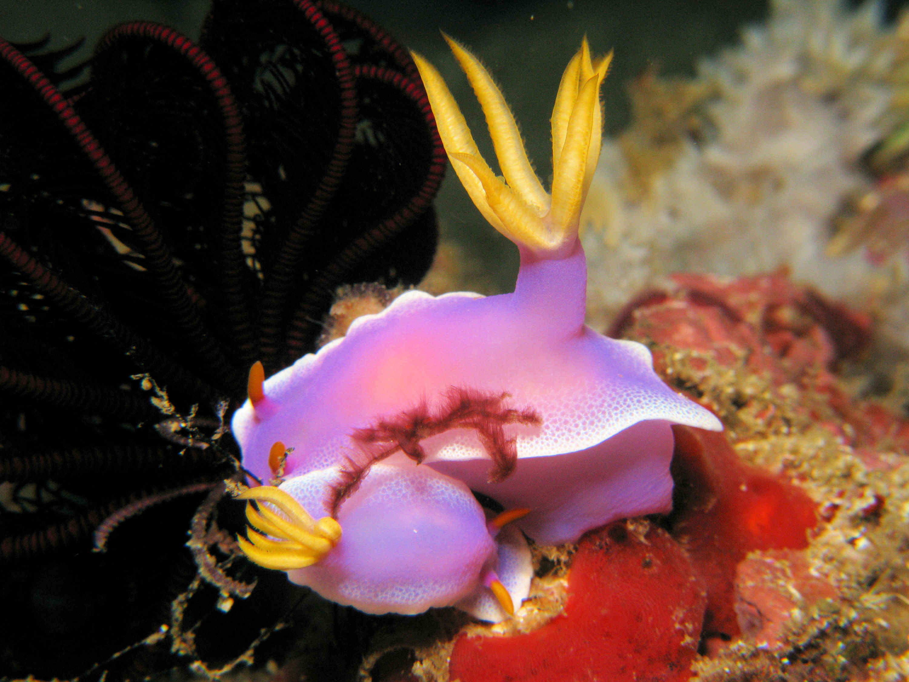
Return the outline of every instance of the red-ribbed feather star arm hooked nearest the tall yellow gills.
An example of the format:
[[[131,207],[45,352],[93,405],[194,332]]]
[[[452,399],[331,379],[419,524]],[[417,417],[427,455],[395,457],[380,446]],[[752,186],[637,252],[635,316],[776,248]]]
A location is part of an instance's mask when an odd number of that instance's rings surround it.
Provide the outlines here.
[[[321,330],[318,321],[319,313],[325,309],[325,304],[335,295],[335,288],[344,281],[345,275],[359,265],[366,256],[385,245],[432,206],[435,194],[445,176],[445,164],[447,163],[445,147],[435,128],[435,116],[423,86],[405,75],[383,66],[357,67],[356,76],[394,85],[419,107],[420,112],[425,116],[432,137],[433,149],[430,165],[423,185],[417,189],[405,206],[398,209],[393,216],[385,218],[378,225],[358,236],[313,277],[287,330],[288,356],[286,360],[288,362],[303,354],[305,345],[313,336],[317,336],[314,330],[317,328]]]

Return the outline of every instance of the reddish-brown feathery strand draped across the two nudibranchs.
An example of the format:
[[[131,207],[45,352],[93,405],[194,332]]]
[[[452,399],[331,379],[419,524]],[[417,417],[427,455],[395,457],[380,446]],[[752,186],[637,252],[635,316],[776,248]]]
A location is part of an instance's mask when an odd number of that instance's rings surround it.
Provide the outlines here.
[[[381,418],[373,426],[358,428],[351,436],[364,453],[358,461],[347,457],[338,483],[331,488],[332,517],[347,497],[354,494],[376,462],[403,452],[417,464],[426,457],[421,441],[453,428],[473,428],[486,453],[493,460],[489,469],[489,482],[501,483],[514,473],[517,464],[517,446],[514,438],[506,438],[504,426],[523,424],[540,426],[539,413],[530,407],[513,409],[504,406],[508,393],[483,393],[473,388],[451,386],[444,399],[433,412],[425,401],[403,412]]]

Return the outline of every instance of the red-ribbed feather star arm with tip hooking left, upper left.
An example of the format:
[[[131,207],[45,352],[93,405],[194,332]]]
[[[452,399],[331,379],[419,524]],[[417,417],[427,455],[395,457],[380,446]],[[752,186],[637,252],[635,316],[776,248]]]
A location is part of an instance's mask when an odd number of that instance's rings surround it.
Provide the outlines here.
[[[246,176],[246,137],[240,106],[231,92],[230,84],[205,51],[185,35],[153,22],[133,22],[117,26],[105,35],[98,51],[109,49],[129,37],[154,40],[183,56],[205,78],[217,103],[224,125],[225,176],[224,208],[221,229],[215,249],[216,272],[220,293],[224,298],[225,327],[234,341],[239,362],[249,365],[258,357],[258,336],[255,334],[252,301],[245,287],[245,256],[240,243],[243,227],[243,203]]]

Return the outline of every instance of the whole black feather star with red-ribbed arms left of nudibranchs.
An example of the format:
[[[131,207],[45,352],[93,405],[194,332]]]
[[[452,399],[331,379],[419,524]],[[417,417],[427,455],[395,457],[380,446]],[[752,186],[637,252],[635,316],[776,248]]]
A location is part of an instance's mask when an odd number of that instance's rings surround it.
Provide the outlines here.
[[[217,666],[292,601],[215,522],[249,367],[313,350],[338,286],[425,275],[444,150],[333,2],[44,45],[0,41],[0,677]]]

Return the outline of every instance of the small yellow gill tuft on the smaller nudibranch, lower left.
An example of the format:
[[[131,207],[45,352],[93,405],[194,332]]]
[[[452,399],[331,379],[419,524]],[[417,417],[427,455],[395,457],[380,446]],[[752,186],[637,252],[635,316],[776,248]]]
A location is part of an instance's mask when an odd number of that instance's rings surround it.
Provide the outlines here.
[[[249,500],[246,520],[250,528],[246,531],[248,540],[242,536],[236,539],[246,557],[259,566],[281,571],[312,566],[341,539],[341,526],[334,518],[316,521],[292,496],[275,486],[250,488],[237,499]],[[275,506],[286,517],[263,503]]]

